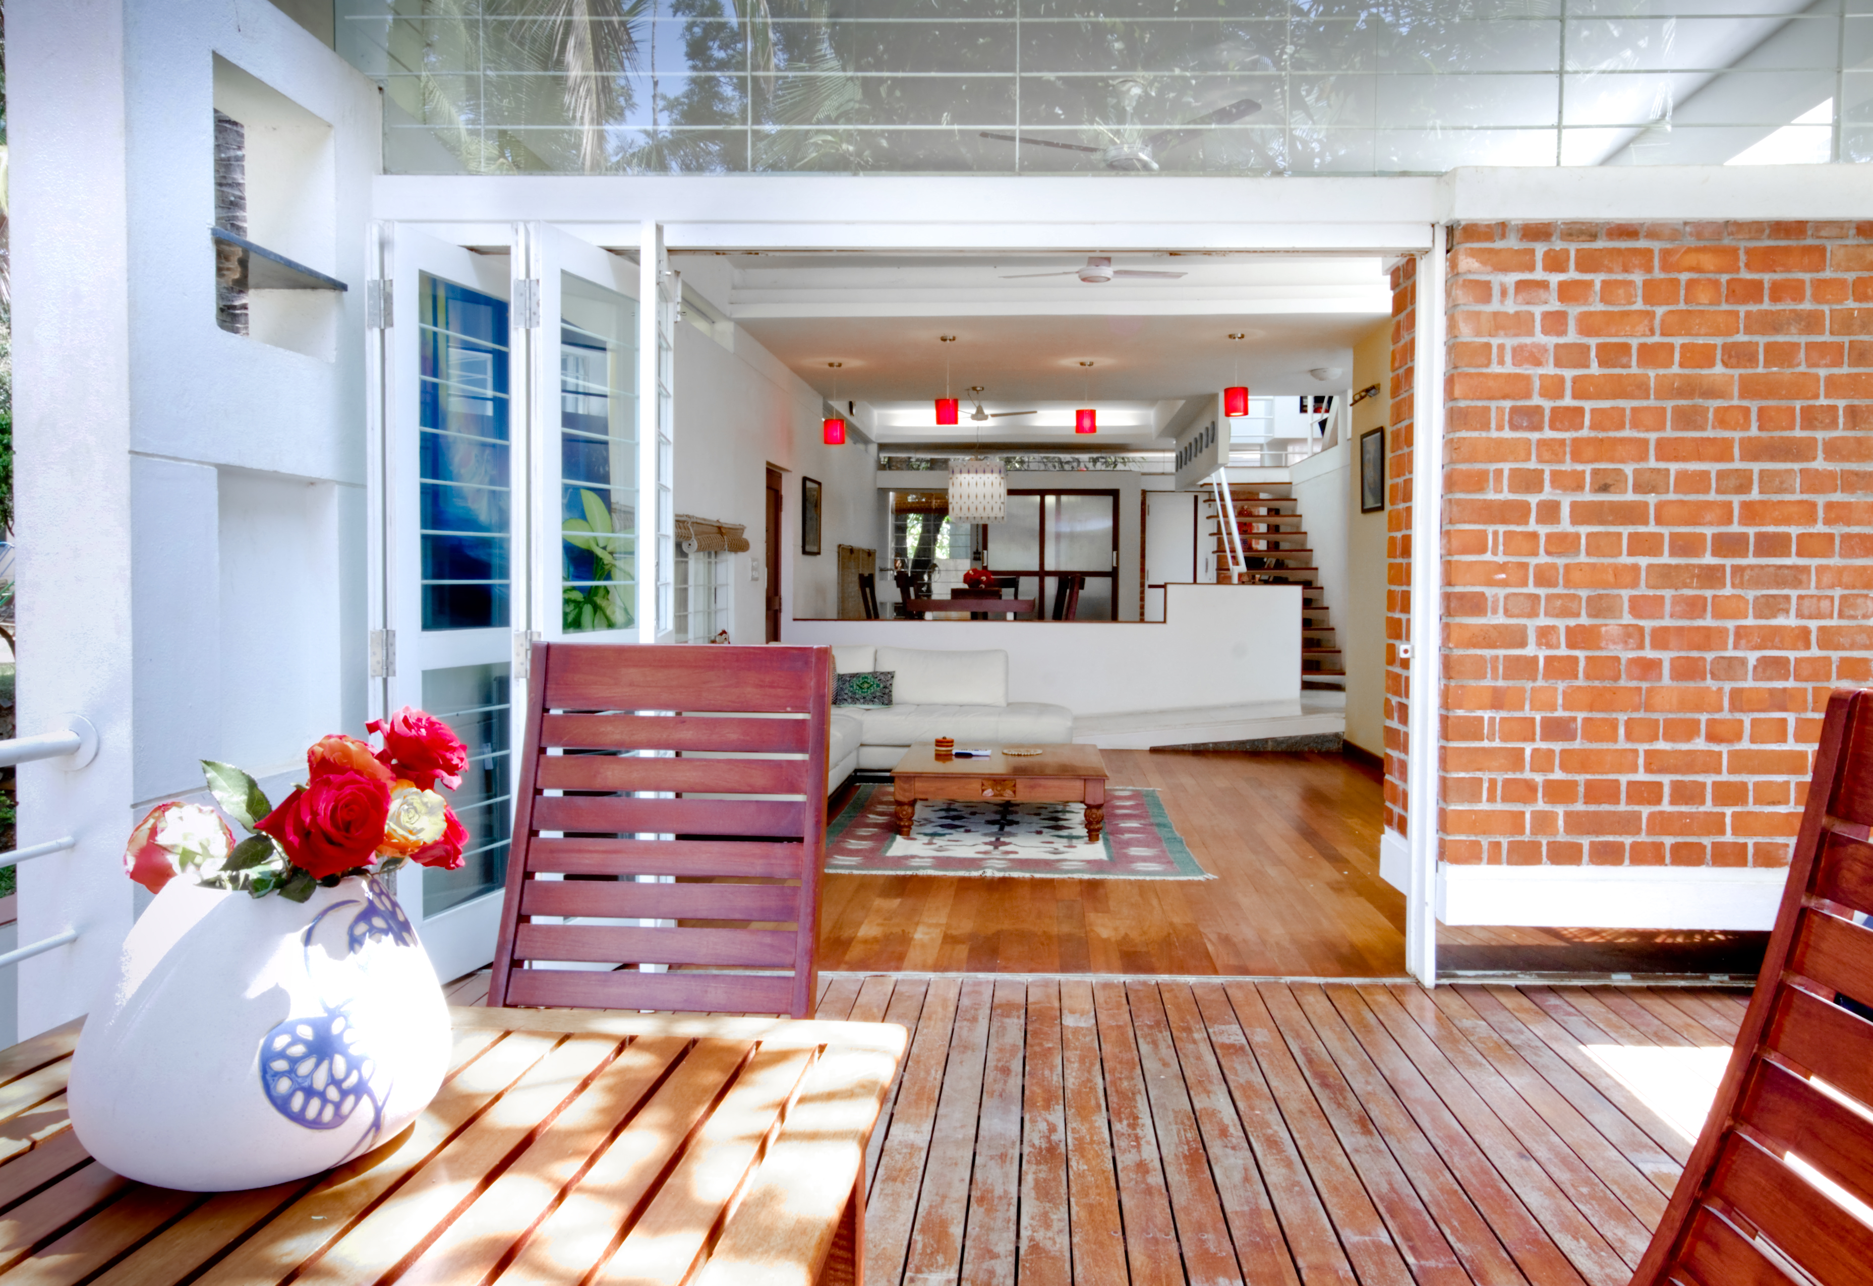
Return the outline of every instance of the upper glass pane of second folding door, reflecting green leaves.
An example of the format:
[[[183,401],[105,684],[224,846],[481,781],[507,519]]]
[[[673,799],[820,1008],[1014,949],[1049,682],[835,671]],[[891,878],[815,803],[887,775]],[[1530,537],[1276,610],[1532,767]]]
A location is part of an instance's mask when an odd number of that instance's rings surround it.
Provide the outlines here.
[[[560,279],[560,627],[637,625],[637,301]]]

